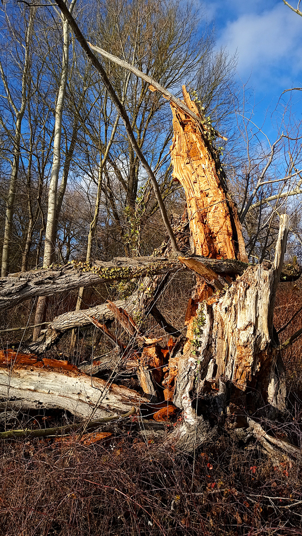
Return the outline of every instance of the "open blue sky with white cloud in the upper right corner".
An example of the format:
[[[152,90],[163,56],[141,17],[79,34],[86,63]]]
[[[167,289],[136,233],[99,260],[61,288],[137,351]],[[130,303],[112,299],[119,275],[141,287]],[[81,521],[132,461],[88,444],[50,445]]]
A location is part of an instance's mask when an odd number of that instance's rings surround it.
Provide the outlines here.
[[[282,0],[204,0],[201,5],[208,21],[214,20],[217,46],[237,53],[238,77],[254,93],[255,122],[266,121],[274,137],[271,113],[282,91],[302,87],[302,17]],[[297,0],[292,5],[296,8]],[[292,97],[301,116],[302,92]],[[283,99],[289,98],[287,93]]]

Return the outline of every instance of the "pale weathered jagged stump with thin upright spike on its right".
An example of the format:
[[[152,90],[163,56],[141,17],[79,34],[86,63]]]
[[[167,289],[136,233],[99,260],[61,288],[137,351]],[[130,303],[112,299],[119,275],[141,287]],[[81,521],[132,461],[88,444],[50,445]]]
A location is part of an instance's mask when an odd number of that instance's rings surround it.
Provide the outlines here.
[[[197,304],[193,340],[179,358],[173,402],[192,411],[190,392],[202,392],[206,380],[226,378],[250,404],[267,405],[268,413],[285,408],[285,378],[278,359],[273,310],[286,247],[288,216],[282,215],[272,266],[250,266],[221,296]],[[192,352],[193,351],[193,352]],[[198,387],[197,387],[197,384]]]

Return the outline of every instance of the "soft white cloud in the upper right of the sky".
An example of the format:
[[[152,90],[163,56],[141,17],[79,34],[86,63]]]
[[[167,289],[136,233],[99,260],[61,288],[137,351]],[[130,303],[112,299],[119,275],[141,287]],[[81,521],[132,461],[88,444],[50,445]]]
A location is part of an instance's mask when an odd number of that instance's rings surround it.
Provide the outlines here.
[[[248,5],[244,13],[242,4]],[[262,12],[259,12],[261,4]],[[237,51],[241,78],[246,79],[252,72],[252,79],[258,77],[258,82],[277,85],[281,84],[280,77],[284,83],[284,75],[289,84],[299,78],[302,75],[302,18],[283,2],[265,11],[259,0],[248,3],[233,0],[231,5],[237,17],[221,29],[219,44],[230,54]]]

